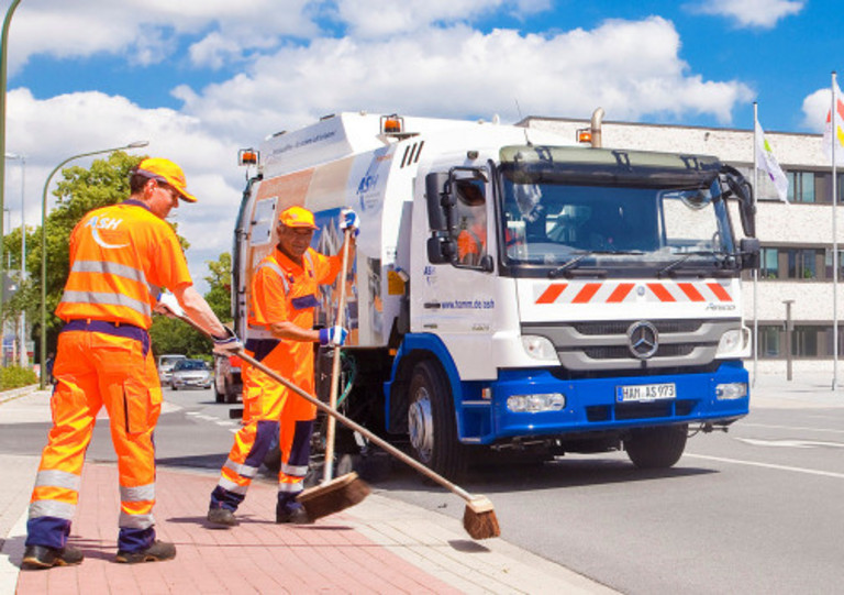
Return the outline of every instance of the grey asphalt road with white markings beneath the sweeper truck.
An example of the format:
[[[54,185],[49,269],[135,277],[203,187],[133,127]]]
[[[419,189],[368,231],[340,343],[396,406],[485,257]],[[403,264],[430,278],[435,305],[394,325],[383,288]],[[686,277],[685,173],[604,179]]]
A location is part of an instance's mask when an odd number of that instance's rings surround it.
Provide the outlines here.
[[[491,467],[462,486],[492,499],[503,539],[623,593],[837,593],[844,396],[842,405],[792,396],[760,399],[729,433],[690,439],[667,471],[637,471],[623,453],[570,455]],[[165,398],[159,463],[214,474],[237,428],[230,406],[214,404],[210,390],[167,390]],[[47,428],[3,426],[0,450],[36,452]],[[104,423],[89,458],[114,459]],[[463,514],[463,500],[401,463],[374,487]]]

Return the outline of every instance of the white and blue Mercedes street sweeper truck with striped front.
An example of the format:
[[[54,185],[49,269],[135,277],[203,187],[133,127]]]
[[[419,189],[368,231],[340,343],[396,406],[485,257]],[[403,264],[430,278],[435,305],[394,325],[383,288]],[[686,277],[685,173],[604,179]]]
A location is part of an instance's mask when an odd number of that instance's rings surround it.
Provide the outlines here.
[[[689,432],[748,411],[753,191],[714,156],[599,144],[340,113],[242,151],[254,175],[234,234],[237,334],[262,332],[247,326],[251,276],[278,213],[313,211],[313,246],[332,254],[352,208],[357,250],[337,280],[346,416],[451,476],[508,450],[674,465]],[[320,324],[338,289],[323,291]]]

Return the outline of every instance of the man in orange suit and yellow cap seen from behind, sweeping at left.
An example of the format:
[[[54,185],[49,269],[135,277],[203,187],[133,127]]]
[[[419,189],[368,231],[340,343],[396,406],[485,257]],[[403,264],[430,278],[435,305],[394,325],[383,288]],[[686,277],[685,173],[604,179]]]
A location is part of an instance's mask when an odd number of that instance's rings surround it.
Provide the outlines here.
[[[53,428],[30,504],[24,569],[76,564],[67,544],[79,498],[85,453],[98,411],[109,412],[120,475],[118,562],[167,560],[171,543],[155,539],[153,430],[162,389],[149,351],[159,288],[169,288],[190,318],[220,339],[241,343],[193,288],[185,254],[164,220],[186,189],[175,163],[147,158],[133,168],[127,200],[87,213],[70,235],[70,271],[56,315],[65,321],[53,367]]]

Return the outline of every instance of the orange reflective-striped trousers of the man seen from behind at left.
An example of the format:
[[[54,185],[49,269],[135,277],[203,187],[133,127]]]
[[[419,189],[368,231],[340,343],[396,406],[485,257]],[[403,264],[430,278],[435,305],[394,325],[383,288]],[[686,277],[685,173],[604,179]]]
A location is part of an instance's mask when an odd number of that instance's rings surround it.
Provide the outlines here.
[[[155,525],[153,430],[162,390],[148,343],[88,330],[63,331],[53,375],[53,429],[32,493],[26,543],[64,547],[76,513],[86,449],[104,405],[120,474],[119,547],[135,550],[138,540],[154,539]]]

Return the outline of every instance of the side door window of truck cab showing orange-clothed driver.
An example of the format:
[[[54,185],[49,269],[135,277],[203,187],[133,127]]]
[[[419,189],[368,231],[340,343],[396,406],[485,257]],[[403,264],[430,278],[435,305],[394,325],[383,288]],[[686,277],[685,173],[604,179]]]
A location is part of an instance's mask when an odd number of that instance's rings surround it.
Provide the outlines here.
[[[457,262],[478,266],[487,254],[487,199],[484,181],[455,180],[457,200],[452,239],[457,244]]]

